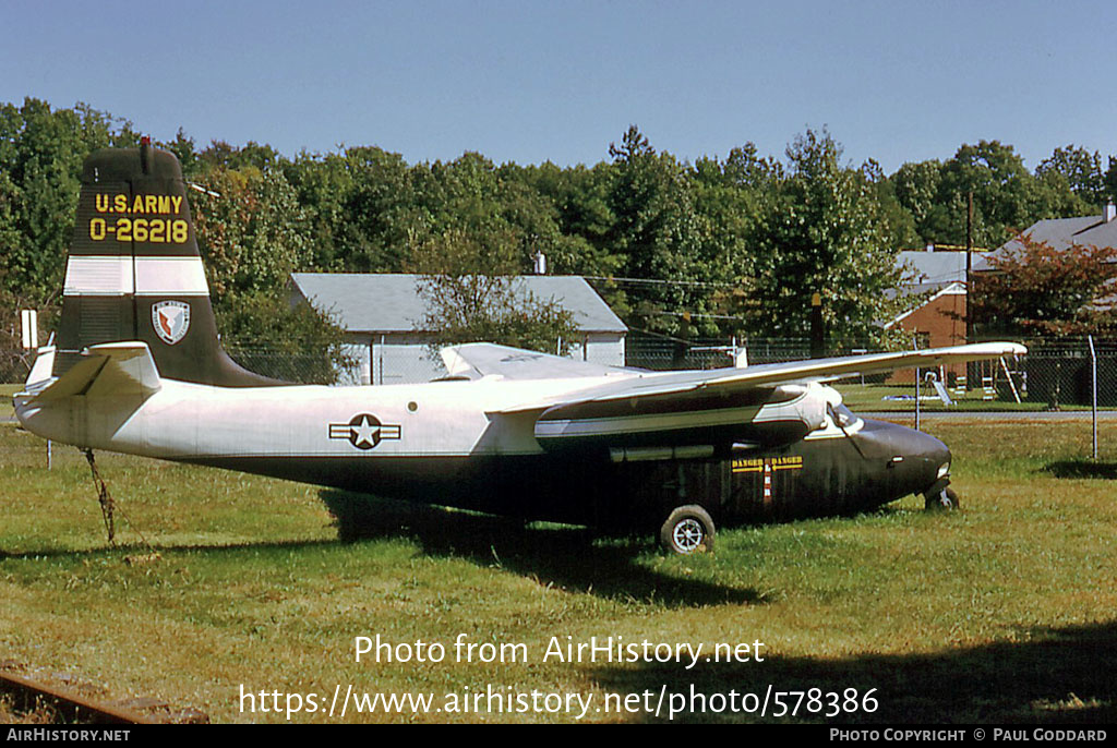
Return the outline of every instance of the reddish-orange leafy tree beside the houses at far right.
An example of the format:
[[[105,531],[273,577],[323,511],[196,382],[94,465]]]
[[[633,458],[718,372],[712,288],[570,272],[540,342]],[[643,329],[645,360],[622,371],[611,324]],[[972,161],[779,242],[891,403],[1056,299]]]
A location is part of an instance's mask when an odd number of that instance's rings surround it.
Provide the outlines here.
[[[1117,248],[1056,250],[1021,234],[990,266],[974,282],[974,318],[983,332],[1117,333]]]

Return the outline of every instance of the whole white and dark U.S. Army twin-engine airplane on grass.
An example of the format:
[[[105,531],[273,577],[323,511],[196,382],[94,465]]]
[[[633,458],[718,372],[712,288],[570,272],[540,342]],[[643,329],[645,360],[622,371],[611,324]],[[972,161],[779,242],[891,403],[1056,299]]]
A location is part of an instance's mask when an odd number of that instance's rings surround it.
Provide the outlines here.
[[[292,385],[222,351],[175,157],[86,161],[57,345],[20,422],[85,449],[599,527],[659,527],[677,553],[718,522],[952,505],[937,439],[855,416],[821,384],[1024,353],[966,345],[646,372],[477,343],[424,384]]]

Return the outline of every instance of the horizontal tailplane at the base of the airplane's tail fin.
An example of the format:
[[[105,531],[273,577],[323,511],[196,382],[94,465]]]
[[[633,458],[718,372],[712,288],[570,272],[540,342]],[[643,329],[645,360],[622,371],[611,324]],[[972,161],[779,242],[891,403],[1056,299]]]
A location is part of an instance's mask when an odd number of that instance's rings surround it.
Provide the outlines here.
[[[92,345],[59,378],[45,386],[36,384],[29,381],[26,390],[39,402],[73,395],[140,395],[146,399],[162,387],[151,351],[141,342]]]

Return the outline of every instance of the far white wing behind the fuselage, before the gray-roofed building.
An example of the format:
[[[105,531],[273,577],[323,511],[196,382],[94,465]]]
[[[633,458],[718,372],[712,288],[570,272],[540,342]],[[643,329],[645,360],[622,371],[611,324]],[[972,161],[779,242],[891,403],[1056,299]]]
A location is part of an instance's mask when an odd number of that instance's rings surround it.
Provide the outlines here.
[[[493,374],[507,380],[558,380],[636,371],[491,343],[456,345],[442,348],[439,354],[450,376],[471,380]]]

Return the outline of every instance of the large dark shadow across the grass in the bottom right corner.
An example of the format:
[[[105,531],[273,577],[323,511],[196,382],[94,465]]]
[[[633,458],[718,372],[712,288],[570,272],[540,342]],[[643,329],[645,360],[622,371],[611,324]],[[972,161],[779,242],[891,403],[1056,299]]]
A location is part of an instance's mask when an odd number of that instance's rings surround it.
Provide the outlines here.
[[[871,713],[856,711],[825,717],[829,707],[824,707],[823,713],[812,715],[806,711],[804,698],[800,721],[1111,725],[1117,720],[1117,671],[1113,668],[1117,622],[1043,627],[1027,633],[1030,641],[996,642],[932,654],[867,653],[840,660],[770,655],[764,662],[699,662],[689,671],[681,665],[605,665],[594,671],[592,678],[607,692],[622,694],[647,690],[658,697],[665,683],[668,692],[687,696],[693,683],[695,691],[707,698],[727,694],[733,689],[738,693],[738,703],[743,693],[757,693],[763,701],[770,683],[780,691],[818,688],[844,694],[847,689],[857,689],[859,698],[876,689],[871,698],[876,699],[877,708]],[[752,635],[743,639],[751,640]],[[786,703],[794,700],[784,699]],[[790,716],[775,719],[772,715],[770,711],[767,721],[794,721]],[[643,719],[639,715],[631,717]],[[676,715],[674,721],[717,719],[765,721],[747,715],[708,711]],[[1027,733],[1032,737],[1031,730]]]

